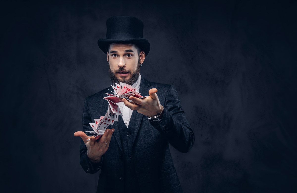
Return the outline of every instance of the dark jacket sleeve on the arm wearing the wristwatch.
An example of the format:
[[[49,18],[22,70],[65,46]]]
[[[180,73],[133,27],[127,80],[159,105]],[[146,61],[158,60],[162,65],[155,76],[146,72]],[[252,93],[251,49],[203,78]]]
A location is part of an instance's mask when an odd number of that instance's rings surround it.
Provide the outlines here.
[[[194,144],[194,133],[186,119],[176,89],[170,85],[161,123],[156,127],[178,151],[186,153]]]

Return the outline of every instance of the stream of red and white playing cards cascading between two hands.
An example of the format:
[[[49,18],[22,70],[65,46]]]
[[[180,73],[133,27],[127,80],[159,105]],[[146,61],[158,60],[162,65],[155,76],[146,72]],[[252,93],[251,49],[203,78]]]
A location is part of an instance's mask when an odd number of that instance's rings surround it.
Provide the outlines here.
[[[141,96],[140,93],[136,92],[136,88],[126,83],[120,82],[120,84],[115,83],[115,85],[116,86],[111,85],[113,88],[113,91],[111,92],[113,94],[106,93],[108,96],[103,97],[103,99],[108,101],[108,110],[105,116],[94,119],[94,123],[90,123],[93,131],[85,131],[85,133],[89,135],[88,137],[95,136],[95,140],[99,139],[110,124],[118,121],[119,116],[123,116],[119,106],[116,104],[121,102],[119,99],[125,98],[128,102],[132,102],[129,100],[130,96],[134,96],[139,99],[147,97]]]

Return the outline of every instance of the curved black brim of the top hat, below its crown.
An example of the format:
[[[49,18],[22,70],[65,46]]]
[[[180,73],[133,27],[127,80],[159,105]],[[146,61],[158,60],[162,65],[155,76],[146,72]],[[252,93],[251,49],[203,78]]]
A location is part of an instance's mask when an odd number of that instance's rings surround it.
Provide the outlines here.
[[[107,54],[107,46],[111,43],[132,43],[140,47],[143,52],[148,55],[151,49],[151,44],[144,38],[131,38],[131,39],[99,39],[97,41],[99,48]]]

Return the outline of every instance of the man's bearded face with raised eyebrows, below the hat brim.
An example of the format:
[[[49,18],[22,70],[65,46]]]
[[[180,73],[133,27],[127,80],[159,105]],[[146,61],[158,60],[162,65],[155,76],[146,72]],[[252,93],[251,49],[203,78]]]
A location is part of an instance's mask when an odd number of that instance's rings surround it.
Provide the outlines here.
[[[140,52],[134,44],[110,44],[107,53],[110,80],[113,83],[132,85],[139,77],[140,63],[144,60],[144,52]]]

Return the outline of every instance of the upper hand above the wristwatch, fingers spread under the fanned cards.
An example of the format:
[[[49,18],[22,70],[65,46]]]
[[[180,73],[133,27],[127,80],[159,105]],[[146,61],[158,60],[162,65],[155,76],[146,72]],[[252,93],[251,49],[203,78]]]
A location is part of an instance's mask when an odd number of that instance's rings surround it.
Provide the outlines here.
[[[149,90],[149,96],[144,99],[130,96],[129,99],[132,100],[133,103],[128,102],[127,99],[122,99],[122,102],[124,102],[128,108],[137,110],[138,113],[149,117],[154,116],[162,111],[162,106],[156,92],[158,92],[157,88],[152,88]]]

